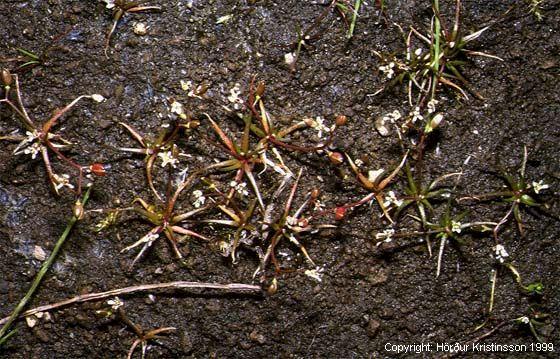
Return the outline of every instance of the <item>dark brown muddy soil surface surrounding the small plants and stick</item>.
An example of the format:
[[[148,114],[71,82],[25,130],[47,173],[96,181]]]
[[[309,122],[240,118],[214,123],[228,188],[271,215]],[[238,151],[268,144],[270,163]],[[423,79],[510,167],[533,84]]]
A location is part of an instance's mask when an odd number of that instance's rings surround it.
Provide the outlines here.
[[[336,131],[331,148],[360,159],[365,172],[393,169],[403,156],[399,139],[393,129],[389,136],[381,136],[375,121],[394,110],[404,114],[413,108],[408,104],[405,84],[376,94],[387,79],[379,70],[383,63],[375,51],[402,55],[405,43],[394,24],[405,32],[410,26],[425,32],[430,26],[431,6],[427,1],[387,1],[381,15],[375,2],[368,1],[360,9],[355,36],[349,41],[341,14],[335,9],[325,12],[326,6],[320,3],[154,0],[149,5],[159,5],[161,11],[123,17],[106,57],[104,46],[112,13],[104,3],[7,0],[0,3],[0,56],[3,60],[17,57],[17,48],[46,54],[40,66],[19,74],[24,105],[38,123],[78,95],[95,93],[106,98],[99,104],[80,102],[55,127],[74,143],[66,152],[69,157],[78,163],[99,162],[107,167],[107,175],[95,179],[87,209],[126,207],[135,198],[150,203],[155,200],[147,186],[143,156],[117,150],[138,146],[119,122],[155,136],[162,125],[178,119],[170,110],[174,100],[183,104],[187,118],[201,121],[199,128],[177,141],[185,156],[180,157],[176,169],[164,169],[160,159],[156,161],[154,182],[158,189],[165,188],[167,178],[186,167],[194,171],[214,163],[214,158],[228,158],[227,152],[215,146],[219,139],[203,114],[239,138],[242,121],[228,97],[239,84],[239,97],[245,99],[254,76],[265,83],[266,110],[279,126],[317,116],[331,126],[336,116],[346,115],[348,123]],[[467,59],[463,74],[484,99],[469,94],[467,101],[449,87],[438,89],[437,111],[444,120],[426,147],[423,170],[429,179],[462,171],[459,181],[447,182],[456,185],[455,199],[501,190],[504,182],[496,172],[503,166],[515,173],[526,146],[527,181],[542,180],[549,185],[538,196],[546,213],[521,206],[524,234],[510,219],[499,239],[509,254],[507,263],[515,266],[523,283],[544,284],[542,295],[528,295],[511,272],[499,265],[489,233],[464,233],[461,245],[448,245],[441,275],[436,278],[439,239],[432,238],[431,257],[422,236],[377,245],[376,234],[390,224],[381,217],[376,202],[348,210],[342,221],[335,220],[336,206],[358,201],[368,193],[360,187],[348,161],[337,167],[324,154],[282,151],[294,173],[304,169],[294,209],[309,191],[318,188],[327,209],[320,223],[337,225],[336,229],[302,237],[316,267],[298,246],[284,239],[276,249],[282,271],[275,273],[270,264],[264,274],[253,279],[259,266],[258,251],[251,248],[255,245],[240,246],[238,261],[233,264],[219,248],[219,242],[227,241],[233,232],[223,226],[199,224],[192,228],[211,238],[211,243],[196,238],[181,241],[178,246],[184,258],[178,260],[162,238],[131,269],[139,247],[121,250],[151,227],[138,216],[126,214],[116,226],[96,233],[95,225],[103,216],[92,212],[72,233],[30,307],[141,283],[241,282],[268,288],[276,277],[278,290],[274,295],[183,291],[122,299],[128,317],[145,330],[177,328],[157,343],[149,343],[148,358],[442,357],[451,354],[435,352],[436,343],[472,343],[486,333],[490,335],[480,343],[534,345],[537,340],[529,326],[514,320],[539,315],[543,324],[536,327],[537,333],[543,342],[554,345],[556,353],[470,352],[458,356],[556,357],[560,349],[560,227],[554,218],[559,213],[560,191],[560,9],[556,2],[544,1],[539,21],[527,3],[463,2],[461,25],[465,33],[491,25],[472,43],[473,48],[503,61]],[[450,27],[454,4],[441,6]],[[302,48],[292,71],[285,54],[293,51],[298,29],[312,26],[323,12],[323,20],[312,32],[317,36],[306,41],[308,46]],[[134,32],[138,23],[146,26],[145,35]],[[7,61],[2,66],[15,72],[20,64]],[[181,81],[202,85],[205,92],[201,98],[189,96]],[[247,113],[243,106],[239,111]],[[17,129],[23,133],[14,113],[1,107],[0,135]],[[326,134],[318,136],[316,128],[310,128],[290,140],[314,146],[324,141]],[[413,137],[404,141],[409,143]],[[31,160],[29,155],[13,155],[16,146],[0,143],[2,317],[11,313],[41,265],[35,247],[50,253],[75,200],[70,191],[53,194],[40,156]],[[74,173],[52,157],[56,171]],[[414,161],[414,154],[409,160]],[[257,174],[261,170],[262,166],[257,166],[255,176],[264,201],[274,201],[273,192],[281,177],[270,168]],[[233,172],[210,175],[225,187],[233,176]],[[293,180],[276,200],[275,215],[281,213],[292,184]],[[200,183],[195,187],[182,194],[178,207],[192,209],[195,189],[211,197],[208,187]],[[387,190],[401,197],[405,187],[406,176],[401,171]],[[248,190],[254,198],[253,189],[248,186]],[[247,201],[240,203],[245,206]],[[504,201],[453,203],[454,213],[468,211],[465,222],[498,222],[511,207]],[[436,204],[434,221],[445,207],[445,201]],[[411,207],[393,228],[399,232],[417,230],[415,221],[406,214],[417,212]],[[207,216],[227,219],[216,208]],[[313,278],[309,270],[317,271],[321,280]],[[498,280],[489,316],[492,270],[498,270]],[[126,357],[137,337],[114,315],[102,318],[96,314],[104,309],[107,305],[101,301],[70,306],[49,313],[50,320],[38,319],[33,328],[22,320],[0,356]],[[486,320],[482,329],[473,332]],[[391,349],[387,343],[431,343],[432,351],[397,355],[387,351]],[[139,350],[135,357],[140,357]]]

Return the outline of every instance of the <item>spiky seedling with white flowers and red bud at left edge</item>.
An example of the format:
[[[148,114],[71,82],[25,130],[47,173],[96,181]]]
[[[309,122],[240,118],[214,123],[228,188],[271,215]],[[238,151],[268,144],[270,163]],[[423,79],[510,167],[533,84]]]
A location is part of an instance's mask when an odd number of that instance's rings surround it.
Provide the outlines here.
[[[13,151],[14,155],[28,154],[32,159],[35,159],[38,154],[41,154],[49,181],[56,194],[59,194],[60,189],[63,187],[74,189],[75,186],[71,183],[70,176],[68,174],[59,175],[53,171],[49,152],[53,152],[59,160],[74,168],[78,172],[76,185],[76,192],[78,194],[81,193],[84,171],[92,172],[96,175],[105,174],[105,170],[101,164],[82,166],[63,155],[62,151],[68,149],[72,143],[52,131],[59,118],[72,109],[80,100],[89,98],[96,102],[102,102],[104,101],[103,96],[97,94],[79,96],[64,108],[56,110],[52,117],[46,120],[43,125],[39,126],[31,119],[25,109],[25,106],[23,105],[17,75],[12,75],[9,71],[2,70],[2,84],[4,88],[4,98],[0,99],[0,104],[4,103],[12,109],[12,111],[16,114],[16,117],[19,119],[21,127],[25,129],[26,134],[25,136],[17,134],[2,136],[0,137],[0,140],[19,141],[19,144]],[[12,88],[12,85],[14,84],[15,88]],[[15,93],[13,93],[14,91]],[[13,97],[15,97],[15,100]]]

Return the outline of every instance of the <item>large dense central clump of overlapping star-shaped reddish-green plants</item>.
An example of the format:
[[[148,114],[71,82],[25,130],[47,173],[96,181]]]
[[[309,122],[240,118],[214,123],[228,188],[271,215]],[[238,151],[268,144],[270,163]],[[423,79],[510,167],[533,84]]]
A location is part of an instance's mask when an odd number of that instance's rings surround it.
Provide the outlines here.
[[[327,126],[320,117],[304,118],[281,128],[266,110],[264,92],[264,83],[251,81],[246,110],[233,114],[233,119],[238,119],[242,126],[238,138],[208,114],[198,119],[187,118],[182,104],[175,100],[171,102],[171,112],[178,115],[178,122],[164,126],[155,139],[121,123],[140,148],[118,149],[144,157],[153,201],[136,198],[129,207],[108,209],[108,216],[97,229],[117,223],[127,212],[149,223],[151,229],[147,234],[123,249],[126,252],[141,248],[133,265],[164,236],[178,259],[183,257],[181,243],[189,238],[211,242],[233,262],[238,261],[238,249],[243,246],[258,257],[255,275],[260,274],[263,281],[268,278],[269,264],[274,267],[273,277],[292,270],[285,268],[278,258],[283,242],[294,245],[313,267],[311,270],[316,270],[304,243],[321,230],[335,228],[328,223],[329,218],[334,218],[333,212],[320,202],[318,188],[310,189],[307,194],[299,193],[303,169],[294,174],[284,157],[303,153],[328,163],[328,158],[333,156],[329,146],[347,119],[338,116]],[[307,143],[292,140],[295,132],[305,130],[315,133]],[[210,158],[202,163],[185,163],[192,158],[188,152],[193,150],[180,141],[186,132],[213,148]],[[167,168],[167,172],[160,171],[157,176],[167,180],[154,177],[155,167]],[[265,181],[278,185],[263,187]],[[165,190],[158,190],[158,184]],[[213,226],[222,228],[219,235],[206,234],[212,232],[209,227]]]

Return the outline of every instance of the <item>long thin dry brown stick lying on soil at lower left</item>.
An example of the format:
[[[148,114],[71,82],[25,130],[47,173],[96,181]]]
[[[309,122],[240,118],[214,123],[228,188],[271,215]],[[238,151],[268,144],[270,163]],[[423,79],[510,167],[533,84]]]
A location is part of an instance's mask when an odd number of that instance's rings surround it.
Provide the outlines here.
[[[89,293],[75,296],[73,298],[65,299],[63,301],[46,304],[33,309],[29,309],[23,312],[19,318],[27,317],[39,312],[47,312],[60,307],[65,307],[75,303],[85,303],[94,300],[101,300],[113,296],[132,294],[137,292],[147,292],[153,290],[161,289],[218,289],[226,292],[234,293],[252,293],[259,294],[262,292],[262,288],[258,285],[242,284],[242,283],[231,283],[231,284],[219,284],[219,283],[204,283],[204,282],[168,282],[168,283],[155,283],[155,284],[142,284],[131,287],[112,289],[106,292]],[[0,320],[0,325],[6,323],[9,317]]]

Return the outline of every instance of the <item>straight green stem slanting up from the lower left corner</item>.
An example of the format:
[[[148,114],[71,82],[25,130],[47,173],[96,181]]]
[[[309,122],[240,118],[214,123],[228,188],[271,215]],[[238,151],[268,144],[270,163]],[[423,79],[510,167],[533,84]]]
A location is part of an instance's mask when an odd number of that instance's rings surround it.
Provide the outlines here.
[[[91,187],[88,188],[88,190],[86,191],[86,193],[84,194],[84,196],[80,200],[82,205],[86,204],[86,202],[89,198],[90,192],[91,192]],[[75,215],[73,215],[72,218],[70,218],[70,220],[68,221],[68,224],[66,225],[66,228],[64,229],[64,232],[62,233],[60,238],[58,238],[58,241],[56,242],[56,245],[54,246],[54,249],[53,249],[51,255],[45,261],[45,263],[43,263],[43,265],[41,266],[41,269],[39,270],[39,272],[35,276],[35,279],[33,280],[33,283],[31,283],[31,287],[29,287],[25,296],[20,300],[20,302],[18,303],[18,305],[16,306],[16,308],[14,309],[14,311],[12,312],[12,314],[10,315],[10,317],[8,318],[6,323],[2,326],[2,329],[0,329],[0,346],[3,344],[4,340],[6,339],[6,336],[9,336],[9,335],[12,334],[12,332],[7,333],[8,330],[10,329],[13,322],[18,318],[20,313],[23,311],[23,309],[25,308],[27,303],[33,297],[33,294],[35,293],[35,291],[37,290],[37,288],[41,284],[41,282],[43,280],[43,277],[48,272],[49,268],[54,263],[57,255],[58,255],[58,252],[60,251],[60,248],[62,247],[62,245],[66,241],[66,238],[68,238],[68,235],[70,234],[70,231],[72,230],[72,228],[74,227],[74,225],[76,224],[76,222],[78,220],[79,220],[79,218],[76,217]]]

